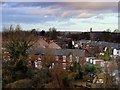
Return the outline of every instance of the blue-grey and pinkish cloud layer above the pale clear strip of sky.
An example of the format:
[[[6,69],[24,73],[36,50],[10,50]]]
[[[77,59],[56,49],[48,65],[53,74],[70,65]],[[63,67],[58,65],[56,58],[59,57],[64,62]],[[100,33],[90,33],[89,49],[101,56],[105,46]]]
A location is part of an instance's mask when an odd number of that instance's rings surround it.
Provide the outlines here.
[[[3,21],[11,22],[47,22],[69,20],[70,18],[91,18],[103,19],[99,14],[111,12],[115,3],[63,3],[63,2],[38,2],[38,3],[2,3]],[[110,6],[109,6],[110,5]],[[115,8],[114,8],[115,9]],[[98,13],[99,12],[99,13]]]

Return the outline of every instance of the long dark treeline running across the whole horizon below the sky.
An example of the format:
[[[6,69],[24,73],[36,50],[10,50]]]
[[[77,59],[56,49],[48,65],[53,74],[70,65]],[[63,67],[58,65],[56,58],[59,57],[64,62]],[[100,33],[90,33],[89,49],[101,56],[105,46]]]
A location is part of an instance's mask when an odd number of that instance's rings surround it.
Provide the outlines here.
[[[7,31],[12,31],[12,30],[21,30],[20,25],[17,25],[15,28],[13,28],[12,25],[9,26],[9,28],[7,27],[3,27],[3,33],[7,32]],[[43,36],[46,37],[47,39],[52,39],[52,40],[57,40],[58,37],[62,36],[62,38],[72,38],[73,40],[93,40],[93,41],[106,41],[106,42],[113,42],[113,43],[120,43],[119,37],[120,37],[120,33],[116,33],[116,32],[110,32],[108,30],[106,31],[90,31],[90,32],[60,32],[57,31],[56,28],[49,28],[48,31],[45,30],[41,30],[41,31],[37,31],[36,29],[32,29],[30,31],[24,31],[21,30],[23,32],[30,32],[32,34],[34,34],[35,36]]]

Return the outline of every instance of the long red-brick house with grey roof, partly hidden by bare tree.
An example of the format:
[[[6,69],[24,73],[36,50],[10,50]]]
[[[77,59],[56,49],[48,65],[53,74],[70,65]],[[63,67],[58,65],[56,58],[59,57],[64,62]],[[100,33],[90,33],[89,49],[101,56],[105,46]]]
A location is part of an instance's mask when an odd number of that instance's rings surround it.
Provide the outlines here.
[[[39,48],[34,52],[34,56],[36,58],[29,59],[29,61],[34,61],[35,67],[41,67],[41,62],[44,60],[45,55],[45,48]],[[51,49],[54,50],[56,62],[52,63],[52,68],[54,65],[62,65],[63,69],[68,69],[69,65],[72,64],[74,61],[81,62],[81,65],[85,63],[85,50],[80,49]]]

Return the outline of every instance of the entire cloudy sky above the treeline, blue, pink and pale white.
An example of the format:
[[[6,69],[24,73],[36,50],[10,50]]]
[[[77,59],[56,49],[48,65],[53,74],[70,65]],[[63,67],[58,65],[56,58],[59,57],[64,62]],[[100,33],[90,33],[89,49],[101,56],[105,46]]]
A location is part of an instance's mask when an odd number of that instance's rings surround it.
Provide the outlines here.
[[[23,30],[104,31],[118,29],[117,2],[2,2],[2,25]]]

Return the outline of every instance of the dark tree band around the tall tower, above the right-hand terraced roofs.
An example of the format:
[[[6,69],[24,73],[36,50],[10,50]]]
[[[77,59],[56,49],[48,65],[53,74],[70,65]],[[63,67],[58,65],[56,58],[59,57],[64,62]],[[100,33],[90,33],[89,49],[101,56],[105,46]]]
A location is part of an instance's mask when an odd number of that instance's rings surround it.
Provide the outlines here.
[[[92,34],[93,35],[90,35]],[[67,34],[68,38],[72,38],[74,40],[93,40],[93,41],[106,41],[106,42],[114,42],[120,43],[120,33],[113,33],[113,32],[82,32],[78,34]]]

